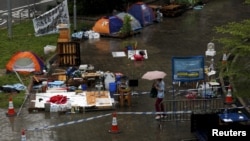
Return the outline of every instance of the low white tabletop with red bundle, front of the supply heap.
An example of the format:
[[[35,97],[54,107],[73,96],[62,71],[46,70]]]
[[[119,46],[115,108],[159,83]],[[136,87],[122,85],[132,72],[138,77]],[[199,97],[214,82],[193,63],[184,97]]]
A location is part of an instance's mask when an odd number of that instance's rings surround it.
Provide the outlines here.
[[[112,109],[113,100],[109,91],[63,92],[61,90],[36,93],[30,101],[29,111],[76,112],[77,110]]]

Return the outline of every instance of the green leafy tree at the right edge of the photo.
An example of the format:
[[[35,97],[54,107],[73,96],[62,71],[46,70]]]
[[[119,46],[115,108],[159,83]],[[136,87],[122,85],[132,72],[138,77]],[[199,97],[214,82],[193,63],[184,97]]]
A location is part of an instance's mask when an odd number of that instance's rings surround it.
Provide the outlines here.
[[[250,3],[250,0],[246,0]],[[227,25],[215,27],[217,33],[226,35],[215,39],[223,45],[223,52],[228,54],[226,65],[221,65],[223,77],[237,89],[234,93],[240,97],[250,97],[250,20],[231,22]]]

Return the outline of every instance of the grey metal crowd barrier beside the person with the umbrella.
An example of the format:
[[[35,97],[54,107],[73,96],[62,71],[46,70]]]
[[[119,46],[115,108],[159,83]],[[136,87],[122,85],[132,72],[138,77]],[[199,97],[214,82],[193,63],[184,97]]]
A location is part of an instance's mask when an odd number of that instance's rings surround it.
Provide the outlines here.
[[[221,98],[164,100],[167,118],[164,121],[190,120],[192,113],[211,113],[224,108]]]

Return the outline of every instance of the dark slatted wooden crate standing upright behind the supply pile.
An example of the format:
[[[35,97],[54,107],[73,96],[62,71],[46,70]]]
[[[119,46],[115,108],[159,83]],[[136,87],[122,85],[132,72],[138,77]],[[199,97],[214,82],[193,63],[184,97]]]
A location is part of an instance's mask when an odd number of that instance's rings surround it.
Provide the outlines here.
[[[57,53],[59,66],[79,66],[81,64],[80,43],[58,42]]]

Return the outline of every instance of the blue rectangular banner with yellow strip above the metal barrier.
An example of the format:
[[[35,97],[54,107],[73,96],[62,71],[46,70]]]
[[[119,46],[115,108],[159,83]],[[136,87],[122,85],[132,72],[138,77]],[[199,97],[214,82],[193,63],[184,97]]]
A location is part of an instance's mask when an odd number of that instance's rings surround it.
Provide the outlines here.
[[[204,80],[204,56],[173,57],[172,79],[174,81]]]

